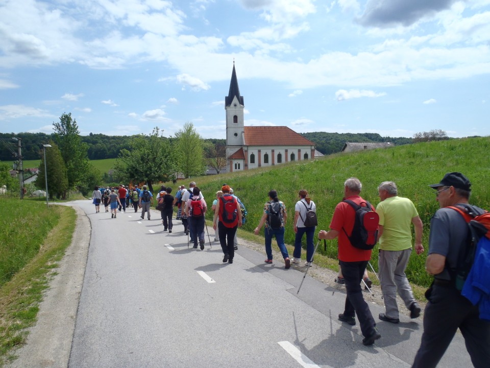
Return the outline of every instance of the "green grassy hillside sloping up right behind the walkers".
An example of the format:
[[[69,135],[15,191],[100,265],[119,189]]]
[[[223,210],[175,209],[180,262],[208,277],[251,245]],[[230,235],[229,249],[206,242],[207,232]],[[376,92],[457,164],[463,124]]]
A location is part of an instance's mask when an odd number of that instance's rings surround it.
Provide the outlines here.
[[[267,192],[277,190],[290,218],[285,234],[288,244],[294,243],[291,220],[300,189],[308,190],[316,203],[319,231],[328,229],[335,205],[342,199],[347,178],[356,176],[361,180],[361,196],[373,205],[379,203],[378,185],[382,181],[392,180],[397,183],[399,195],[410,198],[418,209],[424,222],[424,247],[428,249],[430,218],[438,209],[434,192],[428,185],[438,182],[447,172],[460,171],[473,183],[471,202],[490,208],[489,150],[490,137],[418,143],[389,149],[337,153],[313,161],[197,177],[194,180],[208,201],[214,199],[214,193],[223,183],[230,185],[247,207],[249,214],[244,229],[250,232],[262,216]],[[188,181],[185,180],[186,185]],[[336,247],[336,241],[329,241],[327,252],[323,249],[321,252],[334,258]],[[426,255],[427,251],[421,257],[412,254],[407,268],[410,280],[419,285],[430,282],[424,269]],[[373,252],[372,263],[376,268],[377,252]]]

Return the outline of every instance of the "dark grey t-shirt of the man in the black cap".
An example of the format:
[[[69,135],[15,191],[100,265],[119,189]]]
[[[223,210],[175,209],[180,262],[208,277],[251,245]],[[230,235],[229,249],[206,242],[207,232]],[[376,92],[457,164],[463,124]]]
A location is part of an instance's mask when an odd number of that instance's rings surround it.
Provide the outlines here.
[[[478,207],[475,206],[476,209]],[[480,209],[481,210],[481,209]],[[437,210],[430,220],[429,252],[446,257],[446,267],[456,268],[461,247],[467,244],[468,224],[464,218],[453,209]],[[451,280],[447,268],[434,277]]]

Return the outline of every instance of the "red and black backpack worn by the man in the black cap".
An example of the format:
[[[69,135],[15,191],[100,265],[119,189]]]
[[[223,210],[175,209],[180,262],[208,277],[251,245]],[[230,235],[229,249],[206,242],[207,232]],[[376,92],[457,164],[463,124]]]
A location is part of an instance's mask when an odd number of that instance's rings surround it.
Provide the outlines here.
[[[460,249],[456,269],[448,267],[456,289],[461,291],[473,266],[478,243],[483,241],[482,238],[484,237],[490,239],[490,213],[482,212],[470,204],[450,206],[448,208],[457,211],[468,223],[467,246]]]

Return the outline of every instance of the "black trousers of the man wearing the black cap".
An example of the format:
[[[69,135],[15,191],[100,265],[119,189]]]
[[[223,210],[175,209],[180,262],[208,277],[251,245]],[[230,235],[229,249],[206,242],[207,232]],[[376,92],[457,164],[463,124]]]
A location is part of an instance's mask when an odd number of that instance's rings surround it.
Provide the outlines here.
[[[433,285],[426,294],[424,333],[412,367],[435,367],[459,328],[476,368],[490,366],[490,321],[454,287]]]

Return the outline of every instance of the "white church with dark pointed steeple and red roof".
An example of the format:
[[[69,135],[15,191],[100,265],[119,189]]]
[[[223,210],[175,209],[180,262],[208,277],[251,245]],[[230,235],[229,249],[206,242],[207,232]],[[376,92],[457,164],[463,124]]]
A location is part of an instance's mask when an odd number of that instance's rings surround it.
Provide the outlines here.
[[[225,97],[228,172],[312,159],[315,145],[286,126],[244,126],[235,63]]]

